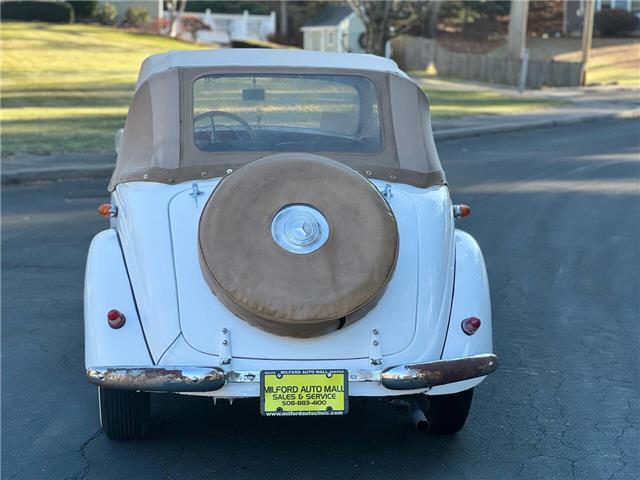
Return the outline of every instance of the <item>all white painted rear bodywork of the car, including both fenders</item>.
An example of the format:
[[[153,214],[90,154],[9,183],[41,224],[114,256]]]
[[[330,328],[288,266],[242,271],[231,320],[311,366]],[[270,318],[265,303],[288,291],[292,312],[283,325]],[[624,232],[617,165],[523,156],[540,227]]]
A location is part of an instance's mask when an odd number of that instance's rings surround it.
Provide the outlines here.
[[[378,305],[355,324],[316,339],[294,339],[258,330],[227,312],[202,277],[195,243],[197,220],[216,183],[217,180],[199,183],[204,194],[198,197],[197,206],[189,197],[191,183],[132,182],[118,186],[113,195],[119,209],[112,222],[114,229],[96,236],[87,262],[87,367],[220,366],[216,346],[222,327],[229,329],[232,357],[231,363],[223,368],[235,371],[289,368],[376,371],[492,352],[484,260],[473,238],[454,230],[446,187],[417,189],[392,184],[390,204],[398,219],[400,237],[415,243],[401,241],[398,266],[387,291]],[[374,183],[380,189],[386,185]],[[120,242],[116,235],[120,236]],[[452,302],[454,269],[456,294]],[[109,295],[96,294],[101,291],[108,291]],[[401,302],[410,308],[403,308]],[[106,312],[112,308],[127,317],[122,329],[113,330],[107,325]],[[482,319],[482,327],[473,336],[467,336],[460,328],[462,319],[469,316]],[[382,363],[376,366],[369,359],[374,328],[380,332],[383,353]],[[429,393],[455,393],[483,379],[434,387]],[[398,395],[379,382],[352,382],[349,388],[352,396]],[[408,393],[412,391],[403,391]],[[259,384],[231,383],[200,394],[258,396]]]

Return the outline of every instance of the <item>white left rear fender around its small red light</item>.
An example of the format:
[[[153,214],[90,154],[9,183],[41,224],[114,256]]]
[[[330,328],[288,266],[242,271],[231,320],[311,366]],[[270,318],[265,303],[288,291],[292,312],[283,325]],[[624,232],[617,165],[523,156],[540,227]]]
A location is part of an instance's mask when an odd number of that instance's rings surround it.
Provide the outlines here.
[[[107,312],[114,308],[126,319],[117,330],[107,323]],[[84,282],[84,345],[87,368],[153,365],[113,229],[98,233],[89,247]]]

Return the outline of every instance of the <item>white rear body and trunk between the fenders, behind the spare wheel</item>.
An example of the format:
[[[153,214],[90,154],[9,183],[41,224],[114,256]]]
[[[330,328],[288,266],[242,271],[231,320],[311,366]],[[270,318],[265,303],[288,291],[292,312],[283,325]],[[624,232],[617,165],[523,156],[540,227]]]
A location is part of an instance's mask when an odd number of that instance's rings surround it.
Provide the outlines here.
[[[390,203],[401,241],[398,265],[384,295],[363,319],[343,330],[293,339],[241,321],[217,301],[203,279],[196,249],[198,219],[216,183],[198,183],[204,195],[197,207],[189,196],[190,183],[131,182],[119,185],[114,194],[119,208],[114,225],[154,359],[181,332],[195,349],[216,354],[222,327],[233,334],[234,356],[244,358],[367,358],[374,328],[380,331],[384,356],[408,349],[413,357],[427,350],[432,359],[438,358],[453,283],[453,219],[446,187],[424,190],[393,184]],[[374,183],[381,189],[385,185]],[[389,318],[397,319],[392,331]]]

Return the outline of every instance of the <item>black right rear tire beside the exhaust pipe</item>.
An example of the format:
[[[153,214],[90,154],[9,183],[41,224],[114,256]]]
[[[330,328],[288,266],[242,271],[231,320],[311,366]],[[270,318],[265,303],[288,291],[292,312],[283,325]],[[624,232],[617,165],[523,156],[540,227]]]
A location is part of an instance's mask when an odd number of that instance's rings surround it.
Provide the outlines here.
[[[449,395],[421,395],[418,403],[429,421],[429,433],[452,435],[464,427],[471,408],[473,388]]]

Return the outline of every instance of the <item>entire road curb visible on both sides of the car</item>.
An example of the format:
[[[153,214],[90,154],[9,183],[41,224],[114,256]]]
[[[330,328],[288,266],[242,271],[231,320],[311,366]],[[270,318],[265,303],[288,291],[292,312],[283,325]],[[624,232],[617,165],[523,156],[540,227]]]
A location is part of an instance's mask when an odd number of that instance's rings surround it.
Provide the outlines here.
[[[573,115],[564,118],[549,120],[535,120],[521,123],[499,123],[481,127],[452,128],[435,130],[433,136],[436,140],[453,140],[465,137],[490,135],[518,130],[530,130],[534,128],[554,127],[560,125],[573,125],[577,123],[591,122],[604,119],[639,118],[640,108],[622,110],[620,112],[607,112],[589,115]],[[25,168],[14,171],[2,172],[2,185],[15,185],[30,182],[45,182],[57,180],[70,180],[76,178],[108,178],[113,173],[114,164],[100,164],[73,167],[48,167]]]

